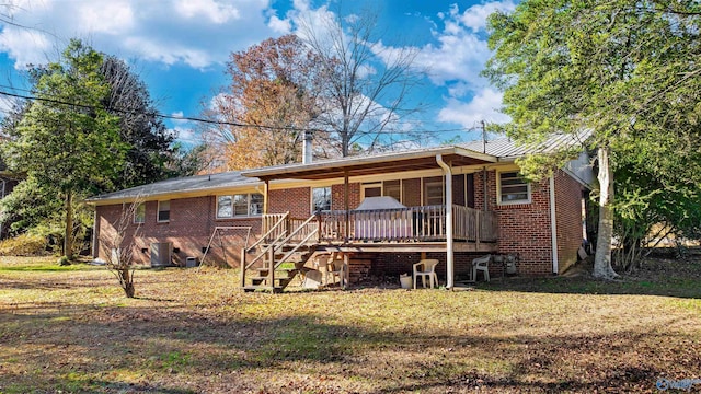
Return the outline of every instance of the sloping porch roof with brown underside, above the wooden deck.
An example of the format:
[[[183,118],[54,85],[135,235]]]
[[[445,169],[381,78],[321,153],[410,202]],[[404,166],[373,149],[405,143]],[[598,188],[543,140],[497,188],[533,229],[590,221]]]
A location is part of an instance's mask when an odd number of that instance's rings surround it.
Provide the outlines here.
[[[322,160],[308,164],[286,164],[241,172],[243,176],[272,179],[330,179],[348,176],[383,174],[391,172],[428,170],[438,167],[436,155],[452,165],[479,165],[495,163],[498,158],[460,147],[439,147],[403,152],[374,154],[343,159]]]

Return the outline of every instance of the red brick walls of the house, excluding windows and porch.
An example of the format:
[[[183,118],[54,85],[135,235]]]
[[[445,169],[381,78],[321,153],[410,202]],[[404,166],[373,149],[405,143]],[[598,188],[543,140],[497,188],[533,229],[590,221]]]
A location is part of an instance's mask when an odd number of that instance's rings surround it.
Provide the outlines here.
[[[404,179],[404,205],[421,205],[421,179]],[[496,205],[496,173],[487,172],[487,209],[497,212],[499,225],[499,253],[518,253],[520,262],[518,271],[520,275],[549,275],[552,271],[551,231],[550,231],[550,195],[549,179],[531,186],[531,204],[524,205]],[[456,187],[464,189],[462,182],[456,182]],[[581,228],[581,186],[568,175],[559,172],[555,177],[558,230],[559,230],[559,256],[560,268],[564,269],[576,260],[576,247],[582,242]],[[349,207],[356,208],[360,202],[360,185],[349,185]],[[289,211],[292,217],[307,218],[311,215],[311,190],[309,187],[298,187],[286,190],[271,190],[269,212]],[[464,199],[462,199],[464,200]],[[483,209],[484,194],[482,172],[474,174],[474,205],[476,209]],[[344,209],[344,185],[332,187],[332,209]],[[111,223],[116,222],[122,211],[122,205],[97,207],[97,220],[100,223],[101,240],[110,239],[113,231]],[[137,253],[140,262],[148,264],[150,259],[150,244],[153,242],[172,242],[180,253],[173,254],[173,262],[184,265],[187,256],[202,258],[202,247],[206,246],[217,225],[250,225],[252,243],[261,231],[260,218],[246,219],[216,219],[216,197],[196,197],[171,200],[171,219],[169,223],[156,222],[157,201],[146,204],[146,223],[141,225],[130,224],[127,239],[133,236],[138,228]],[[234,235],[235,234],[235,235]],[[231,232],[225,236],[227,250],[227,263],[232,266],[239,264],[239,254],[243,247],[245,232]],[[146,253],[140,250],[146,248]],[[231,251],[235,251],[232,253]],[[100,252],[105,258],[104,251]],[[472,258],[479,254],[456,254],[456,274],[467,275]],[[211,260],[210,260],[211,257]],[[441,263],[437,267],[439,277],[445,280],[445,253],[437,253],[429,258],[438,258]],[[208,262],[222,263],[225,255],[218,243],[210,248],[207,255]],[[418,255],[384,254],[374,259],[370,273],[378,269],[386,270],[387,275],[399,275],[411,271],[413,263],[418,262]],[[493,267],[493,274],[498,274],[499,267]]]

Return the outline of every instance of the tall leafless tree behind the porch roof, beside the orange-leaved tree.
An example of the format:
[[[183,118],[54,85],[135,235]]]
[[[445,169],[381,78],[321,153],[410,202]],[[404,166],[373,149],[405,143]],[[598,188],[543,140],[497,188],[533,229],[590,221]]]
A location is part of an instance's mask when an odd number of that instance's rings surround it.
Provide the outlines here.
[[[356,144],[367,151],[397,144],[411,134],[402,126],[403,117],[422,107],[410,103],[410,93],[425,72],[415,65],[418,49],[386,47],[372,10],[346,18],[323,15],[299,21],[300,36],[331,76],[314,123],[329,131],[330,139],[337,139],[343,157],[352,154]]]

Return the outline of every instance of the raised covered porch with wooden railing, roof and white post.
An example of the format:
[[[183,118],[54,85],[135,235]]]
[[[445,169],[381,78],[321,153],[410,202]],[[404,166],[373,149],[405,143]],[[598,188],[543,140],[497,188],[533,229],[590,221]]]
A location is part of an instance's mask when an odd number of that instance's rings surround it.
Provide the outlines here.
[[[313,245],[318,251],[342,252],[346,256],[367,252],[440,252],[446,254],[446,287],[450,289],[455,283],[455,253],[494,252],[498,239],[495,212],[453,204],[453,169],[468,165],[479,169],[495,162],[496,157],[449,147],[266,167],[246,171],[243,175],[264,182],[261,234],[264,243],[286,239]],[[358,183],[357,179],[364,176],[423,170],[440,171],[445,204],[389,209],[350,206],[352,182]],[[317,211],[308,218],[268,212],[271,181],[340,178],[343,179],[345,209]]]

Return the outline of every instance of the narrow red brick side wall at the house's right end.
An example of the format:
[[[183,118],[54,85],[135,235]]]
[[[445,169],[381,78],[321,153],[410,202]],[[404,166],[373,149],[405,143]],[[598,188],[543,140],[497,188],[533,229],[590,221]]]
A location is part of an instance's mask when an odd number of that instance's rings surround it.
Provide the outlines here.
[[[558,270],[562,274],[577,262],[582,244],[582,185],[563,171],[555,174],[555,219],[558,227]]]

